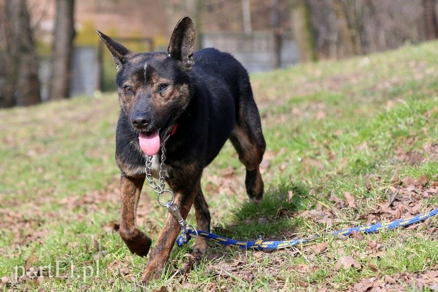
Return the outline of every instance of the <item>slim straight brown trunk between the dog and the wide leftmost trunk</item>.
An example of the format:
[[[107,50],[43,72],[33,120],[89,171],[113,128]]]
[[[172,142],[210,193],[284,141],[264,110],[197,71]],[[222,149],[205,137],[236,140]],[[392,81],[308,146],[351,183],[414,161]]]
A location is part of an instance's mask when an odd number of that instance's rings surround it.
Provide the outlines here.
[[[74,0],[56,0],[49,99],[69,97],[74,31]]]

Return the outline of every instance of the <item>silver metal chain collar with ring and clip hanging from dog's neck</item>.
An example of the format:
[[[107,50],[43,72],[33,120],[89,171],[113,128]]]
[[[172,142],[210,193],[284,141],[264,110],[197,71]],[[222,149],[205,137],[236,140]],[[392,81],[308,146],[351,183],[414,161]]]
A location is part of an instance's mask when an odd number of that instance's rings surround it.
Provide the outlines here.
[[[149,182],[149,185],[152,187],[152,190],[157,194],[157,201],[163,207],[166,207],[170,214],[172,214],[178,223],[181,225],[182,229],[185,233],[187,231],[192,231],[192,237],[198,236],[198,231],[193,225],[185,222],[182,218],[181,213],[179,212],[178,206],[175,204],[175,195],[169,190],[165,189],[165,179],[164,179],[164,161],[166,160],[166,149],[164,147],[164,143],[169,139],[170,135],[164,139],[161,143],[161,162],[160,162],[160,171],[158,172],[158,184],[155,182],[154,177],[152,176],[152,156],[146,155],[146,166],[144,168],[146,172],[146,179]],[[162,195],[167,193],[170,196],[170,200],[166,203],[163,202]]]

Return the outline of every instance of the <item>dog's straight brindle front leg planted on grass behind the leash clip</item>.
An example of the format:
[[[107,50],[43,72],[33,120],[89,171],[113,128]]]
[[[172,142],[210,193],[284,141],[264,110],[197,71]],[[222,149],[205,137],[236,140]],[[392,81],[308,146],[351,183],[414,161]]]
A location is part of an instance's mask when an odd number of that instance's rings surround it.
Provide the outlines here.
[[[187,192],[177,192],[175,194],[175,203],[181,213],[182,218],[186,218],[190,208],[195,200],[196,189]],[[158,279],[161,275],[161,270],[166,261],[169,260],[172,247],[175,244],[176,238],[181,231],[181,225],[170,213],[166,218],[163,229],[161,230],[157,242],[152,248],[150,259],[144,273],[141,276],[140,282],[148,283],[152,279]]]

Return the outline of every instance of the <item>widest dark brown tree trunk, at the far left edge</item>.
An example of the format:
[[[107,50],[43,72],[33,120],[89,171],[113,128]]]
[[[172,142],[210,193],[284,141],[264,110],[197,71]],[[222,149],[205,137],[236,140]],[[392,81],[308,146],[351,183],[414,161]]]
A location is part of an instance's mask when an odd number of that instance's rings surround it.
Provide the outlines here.
[[[41,101],[38,57],[26,0],[7,0],[2,26],[7,36],[2,107],[30,106]]]

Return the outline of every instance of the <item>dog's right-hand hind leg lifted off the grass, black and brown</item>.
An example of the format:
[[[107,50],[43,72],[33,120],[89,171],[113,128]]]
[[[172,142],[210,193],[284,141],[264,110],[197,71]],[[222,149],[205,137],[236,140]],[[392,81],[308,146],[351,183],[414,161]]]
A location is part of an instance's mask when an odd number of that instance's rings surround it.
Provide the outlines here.
[[[263,159],[266,143],[249,80],[243,82],[240,88],[236,126],[230,140],[239,154],[239,160],[246,166],[246,193],[249,199],[258,203],[263,197],[263,180],[259,165]]]

